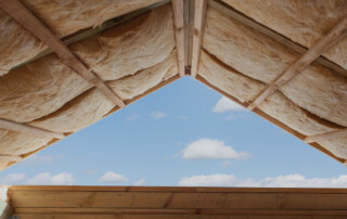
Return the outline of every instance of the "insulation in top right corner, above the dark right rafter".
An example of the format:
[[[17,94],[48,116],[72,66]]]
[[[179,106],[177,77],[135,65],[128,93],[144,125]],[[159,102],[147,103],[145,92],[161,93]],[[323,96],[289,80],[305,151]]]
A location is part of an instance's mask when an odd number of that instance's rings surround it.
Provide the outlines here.
[[[307,48],[347,16],[346,0],[223,0],[265,26]],[[347,38],[325,57],[347,69]]]

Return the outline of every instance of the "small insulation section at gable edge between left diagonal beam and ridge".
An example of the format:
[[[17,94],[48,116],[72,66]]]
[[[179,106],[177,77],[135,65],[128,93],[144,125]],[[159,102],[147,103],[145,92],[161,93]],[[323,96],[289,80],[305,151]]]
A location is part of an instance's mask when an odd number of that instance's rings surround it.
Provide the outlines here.
[[[123,100],[130,100],[144,93],[150,88],[158,85],[178,73],[176,50],[170,55],[150,68],[138,72],[133,76],[126,76],[118,80],[108,81],[107,85]]]

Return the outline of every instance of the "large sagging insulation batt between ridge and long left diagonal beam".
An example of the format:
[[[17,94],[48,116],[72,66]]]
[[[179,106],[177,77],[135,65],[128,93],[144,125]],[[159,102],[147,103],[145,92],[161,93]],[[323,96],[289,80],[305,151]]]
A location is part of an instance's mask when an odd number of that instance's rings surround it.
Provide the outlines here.
[[[174,47],[172,10],[166,4],[70,49],[100,78],[116,80],[164,61]]]

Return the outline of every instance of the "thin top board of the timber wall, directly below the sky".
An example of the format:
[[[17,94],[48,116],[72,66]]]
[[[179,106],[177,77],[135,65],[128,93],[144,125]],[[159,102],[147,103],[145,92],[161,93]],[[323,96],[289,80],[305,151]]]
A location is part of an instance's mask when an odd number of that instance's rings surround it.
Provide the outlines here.
[[[347,189],[335,189],[335,188],[326,189],[326,188],[12,185],[9,188],[9,191],[347,194]]]

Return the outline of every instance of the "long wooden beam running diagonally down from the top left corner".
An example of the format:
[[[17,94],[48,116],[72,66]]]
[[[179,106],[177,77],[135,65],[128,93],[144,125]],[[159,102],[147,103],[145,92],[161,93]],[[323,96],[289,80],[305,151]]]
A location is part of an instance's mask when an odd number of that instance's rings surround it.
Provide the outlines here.
[[[0,8],[29,33],[48,44],[57,54],[62,63],[79,74],[89,83],[95,86],[113,103],[120,107],[125,106],[123,100],[112,91],[103,80],[88,69],[86,65],[27,8],[25,8],[21,1],[0,0]]]

